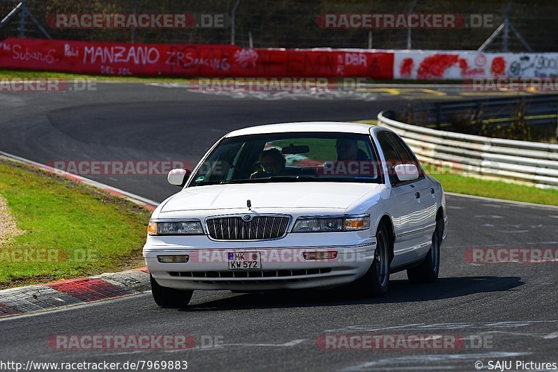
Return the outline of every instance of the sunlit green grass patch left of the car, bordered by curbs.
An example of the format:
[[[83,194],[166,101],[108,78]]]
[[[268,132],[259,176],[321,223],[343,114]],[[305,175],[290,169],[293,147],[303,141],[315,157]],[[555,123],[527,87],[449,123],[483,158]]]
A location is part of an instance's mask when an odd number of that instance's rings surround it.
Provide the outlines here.
[[[0,194],[24,231],[0,247],[0,288],[143,265],[149,210],[3,160]],[[20,262],[23,251],[28,262]]]

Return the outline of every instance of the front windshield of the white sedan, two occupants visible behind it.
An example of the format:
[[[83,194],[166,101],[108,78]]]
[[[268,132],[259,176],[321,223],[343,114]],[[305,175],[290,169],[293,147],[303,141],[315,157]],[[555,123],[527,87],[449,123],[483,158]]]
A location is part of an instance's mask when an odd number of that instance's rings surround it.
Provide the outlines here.
[[[370,136],[353,133],[269,133],[220,141],[188,187],[225,183],[380,183]]]

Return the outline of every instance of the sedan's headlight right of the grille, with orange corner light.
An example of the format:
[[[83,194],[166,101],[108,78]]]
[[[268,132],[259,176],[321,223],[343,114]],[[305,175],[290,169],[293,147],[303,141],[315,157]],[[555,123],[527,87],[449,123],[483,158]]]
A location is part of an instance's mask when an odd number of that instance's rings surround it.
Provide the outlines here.
[[[299,218],[293,233],[321,233],[325,231],[357,231],[370,228],[370,216],[335,218]]]

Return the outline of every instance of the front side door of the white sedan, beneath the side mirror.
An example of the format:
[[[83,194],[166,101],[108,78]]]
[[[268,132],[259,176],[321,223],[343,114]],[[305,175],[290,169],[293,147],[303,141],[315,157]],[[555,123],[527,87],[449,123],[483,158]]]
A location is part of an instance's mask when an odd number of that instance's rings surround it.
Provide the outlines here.
[[[395,176],[393,171],[395,165],[407,163],[408,159],[405,157],[405,153],[403,155],[398,153],[386,134],[389,132],[379,132],[377,139],[388,170],[386,182],[391,184],[398,203],[398,208],[395,209],[397,215],[392,215],[395,240],[391,267],[395,268],[420,258],[417,250],[422,247],[424,241],[423,205],[421,204],[421,189],[418,185],[421,179],[401,182]]]

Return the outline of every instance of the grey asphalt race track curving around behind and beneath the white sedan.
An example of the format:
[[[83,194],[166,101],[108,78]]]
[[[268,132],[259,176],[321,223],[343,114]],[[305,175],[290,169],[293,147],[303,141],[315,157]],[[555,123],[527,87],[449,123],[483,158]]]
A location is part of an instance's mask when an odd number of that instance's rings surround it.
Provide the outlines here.
[[[430,95],[430,98],[443,98]],[[97,91],[0,93],[0,150],[59,160],[186,160],[220,136],[282,121],[375,118],[409,96],[366,93],[233,97],[157,84]],[[412,98],[416,98],[416,95]],[[178,189],[160,176],[91,176],[162,201]],[[392,276],[380,299],[345,290],[197,291],[186,309],[159,309],[150,294],[0,320],[0,355],[16,362],[186,360],[193,371],[475,371],[475,362],[558,362],[557,263],[473,264],[467,249],[558,245],[558,209],[448,196],[450,226],[435,284]],[[193,350],[53,350],[53,334],[191,334]],[[456,348],[324,350],[323,335],[457,335]],[[208,341],[208,340],[213,341]],[[205,345],[200,343],[205,340]],[[218,341],[218,347],[210,347]],[[206,346],[206,347],[204,347]]]

